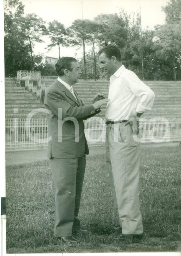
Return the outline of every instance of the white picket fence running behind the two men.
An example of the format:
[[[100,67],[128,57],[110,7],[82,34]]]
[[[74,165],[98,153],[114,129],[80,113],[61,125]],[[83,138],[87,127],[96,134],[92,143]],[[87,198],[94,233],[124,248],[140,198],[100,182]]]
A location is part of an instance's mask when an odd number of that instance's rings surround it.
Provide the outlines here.
[[[47,147],[47,119],[6,119],[6,150],[43,149]],[[92,117],[86,121],[85,135],[89,145],[105,143],[106,120]],[[181,140],[181,119],[140,118],[141,142],[170,142]]]

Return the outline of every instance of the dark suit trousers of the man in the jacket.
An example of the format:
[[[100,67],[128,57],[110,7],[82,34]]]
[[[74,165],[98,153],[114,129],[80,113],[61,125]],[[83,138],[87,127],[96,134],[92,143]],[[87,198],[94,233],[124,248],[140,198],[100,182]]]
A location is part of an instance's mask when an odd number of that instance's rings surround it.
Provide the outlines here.
[[[78,218],[86,158],[50,158],[55,182],[55,236],[80,229]]]

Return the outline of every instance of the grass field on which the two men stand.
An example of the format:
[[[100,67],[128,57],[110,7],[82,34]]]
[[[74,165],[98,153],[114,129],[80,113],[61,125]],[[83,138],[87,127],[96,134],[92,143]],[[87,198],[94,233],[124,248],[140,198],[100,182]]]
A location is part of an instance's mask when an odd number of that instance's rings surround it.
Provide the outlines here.
[[[54,185],[48,161],[6,168],[7,253],[175,251],[181,239],[181,147],[142,148],[144,237],[115,241],[118,226],[104,155],[87,158],[79,217],[91,232],[79,244],[54,238]]]

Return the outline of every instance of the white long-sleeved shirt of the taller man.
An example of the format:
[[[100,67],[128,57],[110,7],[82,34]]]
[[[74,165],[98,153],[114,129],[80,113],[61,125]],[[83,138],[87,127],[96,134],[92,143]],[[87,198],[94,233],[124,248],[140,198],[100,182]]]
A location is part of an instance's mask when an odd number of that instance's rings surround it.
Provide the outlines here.
[[[105,117],[109,121],[129,120],[133,110],[138,113],[150,110],[154,92],[138,76],[122,65],[111,77],[109,102]]]

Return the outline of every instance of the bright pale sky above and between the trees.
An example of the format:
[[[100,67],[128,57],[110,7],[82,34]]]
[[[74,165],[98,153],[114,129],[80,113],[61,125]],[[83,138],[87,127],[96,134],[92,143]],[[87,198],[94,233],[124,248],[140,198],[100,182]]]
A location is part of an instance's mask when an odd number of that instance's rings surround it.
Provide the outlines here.
[[[36,13],[45,21],[58,20],[65,27],[71,26],[76,19],[93,20],[101,13],[119,13],[123,8],[128,14],[140,12],[142,17],[142,29],[147,26],[154,29],[157,24],[164,24],[165,14],[161,7],[167,5],[169,0],[21,0],[25,5],[25,13]],[[54,47],[48,53],[44,49],[50,43],[47,37],[44,37],[46,43],[36,43],[34,53],[44,53],[47,56],[58,58],[58,46]],[[90,49],[90,47],[86,50]],[[77,53],[77,58],[82,56],[82,47],[79,50],[75,48],[65,49],[61,47],[60,56],[72,56]]]

